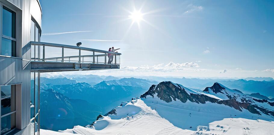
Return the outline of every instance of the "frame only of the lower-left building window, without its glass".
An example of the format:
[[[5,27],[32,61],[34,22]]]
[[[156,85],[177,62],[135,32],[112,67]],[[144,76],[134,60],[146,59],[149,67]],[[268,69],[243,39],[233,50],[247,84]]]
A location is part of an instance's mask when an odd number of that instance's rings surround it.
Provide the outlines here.
[[[18,84],[21,84],[21,83],[18,83]],[[15,90],[15,105],[16,105],[16,85],[17,84],[8,84],[8,85],[11,85],[11,88],[14,88]],[[8,86],[8,85],[0,85],[0,91],[2,91],[1,90],[1,87],[2,86]],[[1,104],[1,96],[0,96],[0,104]],[[0,126],[0,135],[6,135],[6,134],[9,134],[11,131],[14,131],[15,129],[16,129],[16,107],[15,107],[15,110],[14,111],[12,111],[12,112],[10,112],[10,113],[7,113],[7,114],[4,114],[4,115],[2,115],[1,114],[1,108],[0,108],[0,123],[1,123],[1,120],[2,120],[2,118],[3,117],[5,117],[5,116],[9,116],[9,115],[12,115],[12,114],[14,114],[15,113],[15,127],[13,128],[13,129],[11,129],[10,131],[8,131],[8,132],[6,132],[6,133],[4,133],[4,134],[1,134],[1,131],[2,131],[2,129],[1,129],[1,126]]]

